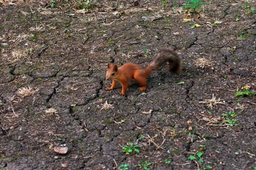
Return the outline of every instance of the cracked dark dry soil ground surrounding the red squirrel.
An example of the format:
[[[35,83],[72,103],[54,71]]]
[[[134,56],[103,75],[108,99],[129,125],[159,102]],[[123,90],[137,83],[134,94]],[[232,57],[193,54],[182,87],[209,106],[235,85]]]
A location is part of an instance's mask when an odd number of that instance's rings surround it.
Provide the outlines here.
[[[57,2],[1,6],[0,170],[135,170],[142,161],[152,170],[255,170],[256,97],[234,96],[245,85],[256,91],[256,15],[245,15],[245,0],[207,2],[188,22],[177,11],[185,0],[99,0],[85,14]],[[164,67],[145,92],[135,82],[126,96],[120,85],[104,91],[107,62],[147,66],[162,47],[180,53],[181,74]],[[199,67],[200,58],[209,65]],[[22,97],[21,87],[39,90]],[[222,103],[209,108],[202,102],[212,95]],[[229,111],[235,126],[221,115]],[[140,153],[122,153],[126,142]],[[68,153],[54,153],[62,144]],[[204,163],[188,160],[198,151]]]

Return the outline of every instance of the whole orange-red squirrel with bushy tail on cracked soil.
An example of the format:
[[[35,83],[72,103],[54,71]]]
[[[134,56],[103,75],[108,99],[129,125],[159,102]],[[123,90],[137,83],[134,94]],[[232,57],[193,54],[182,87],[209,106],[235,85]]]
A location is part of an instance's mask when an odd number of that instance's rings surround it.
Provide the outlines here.
[[[111,87],[105,88],[105,90],[113,90],[119,81],[122,85],[122,92],[120,95],[125,95],[130,80],[134,79],[138,84],[142,85],[139,91],[143,91],[148,87],[146,79],[150,76],[153,70],[160,68],[166,62],[169,63],[169,70],[178,74],[182,68],[182,62],[179,55],[171,49],[162,49],[154,55],[154,60],[148,67],[142,68],[134,63],[126,63],[121,67],[107,64],[106,80],[111,79]]]

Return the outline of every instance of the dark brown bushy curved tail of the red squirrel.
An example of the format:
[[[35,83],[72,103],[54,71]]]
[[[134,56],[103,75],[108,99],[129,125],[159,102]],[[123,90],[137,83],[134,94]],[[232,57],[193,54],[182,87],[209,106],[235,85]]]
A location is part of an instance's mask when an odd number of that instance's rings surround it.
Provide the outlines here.
[[[147,76],[149,76],[153,70],[163,66],[166,62],[169,63],[169,71],[175,74],[181,71],[182,62],[179,55],[171,49],[162,49],[154,55],[154,60],[145,68]]]

